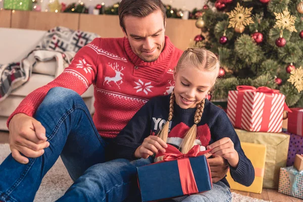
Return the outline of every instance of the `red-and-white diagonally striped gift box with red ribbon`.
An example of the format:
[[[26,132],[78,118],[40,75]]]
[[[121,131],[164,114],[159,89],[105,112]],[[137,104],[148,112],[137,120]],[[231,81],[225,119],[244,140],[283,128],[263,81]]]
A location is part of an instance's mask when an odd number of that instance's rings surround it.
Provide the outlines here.
[[[268,87],[237,86],[228,92],[227,116],[235,128],[281,132],[285,96]]]

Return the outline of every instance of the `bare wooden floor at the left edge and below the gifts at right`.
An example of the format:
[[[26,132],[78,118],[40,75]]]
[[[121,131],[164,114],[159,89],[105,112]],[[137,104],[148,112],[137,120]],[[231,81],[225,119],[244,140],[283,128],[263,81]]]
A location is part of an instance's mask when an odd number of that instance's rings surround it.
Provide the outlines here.
[[[6,131],[0,131],[0,143],[8,143],[9,142],[9,133]],[[259,198],[263,200],[271,200],[274,202],[303,202],[303,200],[294,198],[282,193],[279,193],[278,190],[275,189],[263,189],[262,193],[250,193],[250,192],[245,192],[245,191],[237,191],[237,190],[232,190],[236,193],[242,194],[242,195],[247,195],[252,198]]]

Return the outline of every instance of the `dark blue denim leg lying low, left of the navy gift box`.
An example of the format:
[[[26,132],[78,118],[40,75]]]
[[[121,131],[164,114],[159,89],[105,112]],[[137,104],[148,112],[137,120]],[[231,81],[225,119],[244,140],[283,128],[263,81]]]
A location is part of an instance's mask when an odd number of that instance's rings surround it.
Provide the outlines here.
[[[150,163],[153,163],[152,158],[132,162],[116,159],[94,165],[87,169],[58,201],[141,201],[137,167]],[[131,198],[129,193],[134,197]]]

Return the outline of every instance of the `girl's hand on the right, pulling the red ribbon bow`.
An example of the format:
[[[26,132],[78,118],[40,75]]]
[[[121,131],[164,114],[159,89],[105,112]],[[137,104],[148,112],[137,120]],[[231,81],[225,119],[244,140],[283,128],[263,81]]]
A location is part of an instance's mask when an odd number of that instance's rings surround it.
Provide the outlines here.
[[[239,155],[229,137],[224,137],[211,145],[208,145],[207,149],[212,149],[210,153],[213,156],[221,156],[226,159],[233,168],[238,166]]]

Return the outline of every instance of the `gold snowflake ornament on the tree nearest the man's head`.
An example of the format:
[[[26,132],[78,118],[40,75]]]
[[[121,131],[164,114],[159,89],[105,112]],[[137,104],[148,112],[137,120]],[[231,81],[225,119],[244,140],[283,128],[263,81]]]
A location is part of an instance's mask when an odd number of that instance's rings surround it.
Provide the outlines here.
[[[250,16],[251,10],[252,8],[244,8],[238,3],[234,10],[232,10],[230,13],[226,13],[229,16],[228,28],[235,28],[236,26],[244,28],[246,25],[254,24],[254,21],[252,21]]]

